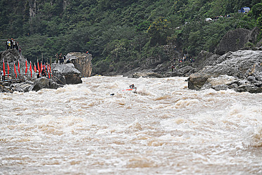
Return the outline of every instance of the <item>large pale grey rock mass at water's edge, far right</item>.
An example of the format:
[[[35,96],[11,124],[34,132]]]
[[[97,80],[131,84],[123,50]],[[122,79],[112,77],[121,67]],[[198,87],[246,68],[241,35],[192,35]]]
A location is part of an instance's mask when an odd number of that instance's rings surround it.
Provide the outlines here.
[[[262,51],[239,50],[228,52],[220,56],[218,60],[223,61],[216,65],[206,66],[202,70],[191,74],[188,79],[188,88],[196,90],[204,88],[219,89],[229,88],[226,86],[234,84],[232,88],[236,91],[260,92],[262,84]],[[237,80],[233,78],[226,80],[226,76],[216,78],[220,75],[232,76]],[[242,83],[243,80],[245,80],[244,83]]]

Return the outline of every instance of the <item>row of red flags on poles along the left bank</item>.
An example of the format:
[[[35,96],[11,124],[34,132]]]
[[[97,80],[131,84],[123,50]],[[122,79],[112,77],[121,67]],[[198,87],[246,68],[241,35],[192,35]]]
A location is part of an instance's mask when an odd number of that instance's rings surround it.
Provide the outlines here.
[[[5,76],[4,59],[2,59],[2,61],[3,61],[2,71],[3,71],[3,75]],[[17,67],[18,73],[20,73],[19,60],[18,60],[18,65],[17,65],[17,66],[18,66],[18,67]],[[15,63],[14,63],[14,61],[13,61],[13,68],[14,68],[15,77],[17,78],[17,73],[16,73],[16,68],[15,68]],[[39,73],[40,73],[40,72],[42,71],[42,69],[43,69],[42,61],[41,61],[41,63],[40,63],[40,67],[39,67],[38,59],[37,59],[37,68],[38,68]],[[7,61],[7,77],[9,77],[9,70],[10,70],[10,67],[9,67],[9,63],[8,63],[8,61]],[[31,77],[32,77],[32,63],[31,63],[31,61],[30,61],[29,70],[30,70],[30,72],[31,72],[30,74],[31,74]],[[33,70],[34,70],[34,72],[37,71],[36,66],[35,66],[35,63],[34,63],[34,66],[33,66]],[[50,74],[52,73],[52,72],[51,72],[51,65],[50,65],[50,64],[47,65],[47,72],[48,72],[48,77],[50,78]],[[24,71],[24,73],[25,73],[25,75],[26,75],[26,73],[27,73],[27,60],[26,60],[26,59],[25,59],[25,71]]]

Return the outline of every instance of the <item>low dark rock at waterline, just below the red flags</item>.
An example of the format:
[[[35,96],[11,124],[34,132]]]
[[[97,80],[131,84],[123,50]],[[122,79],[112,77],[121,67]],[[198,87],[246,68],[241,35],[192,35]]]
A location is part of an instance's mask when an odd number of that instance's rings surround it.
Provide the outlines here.
[[[36,79],[28,90],[38,91],[42,88],[57,89],[58,87],[62,87],[62,85],[47,77],[41,77]]]

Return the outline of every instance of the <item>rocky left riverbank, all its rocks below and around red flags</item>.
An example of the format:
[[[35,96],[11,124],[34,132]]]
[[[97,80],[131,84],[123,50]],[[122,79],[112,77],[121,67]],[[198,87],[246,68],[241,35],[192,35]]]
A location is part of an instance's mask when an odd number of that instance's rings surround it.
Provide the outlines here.
[[[75,53],[75,52],[73,52]],[[19,92],[27,92],[30,90],[38,91],[42,88],[52,88],[56,89],[58,87],[62,87],[65,84],[77,84],[77,83],[82,83],[81,76],[80,76],[80,69],[83,72],[83,75],[90,76],[91,73],[91,54],[86,55],[84,53],[75,53],[75,54],[70,54],[67,59],[71,58],[72,63],[68,64],[58,64],[58,63],[52,63],[51,64],[51,72],[50,78],[47,78],[45,76],[37,78],[36,79],[36,74],[33,73],[33,76],[30,77],[30,73],[21,73],[19,76],[19,79],[8,79],[6,81],[0,81],[0,92],[13,92],[13,91],[19,91]],[[72,55],[74,57],[72,58]],[[84,55],[83,57],[77,57],[77,55]],[[71,57],[70,57],[71,56]],[[3,65],[3,60],[5,62],[5,71],[7,70],[7,65],[6,63],[9,62],[10,66],[10,74],[14,72],[14,66],[13,62],[16,64],[16,72],[18,72],[17,65],[18,65],[18,60],[20,64],[20,70],[21,72],[22,69],[25,69],[25,57],[22,56],[17,52],[15,49],[9,49],[0,52],[0,69],[2,69]],[[83,62],[82,66],[78,66]],[[78,66],[76,69],[74,66],[74,63]],[[27,61],[27,68],[29,62]],[[11,75],[9,75],[10,78]],[[6,77],[7,78],[7,77]]]

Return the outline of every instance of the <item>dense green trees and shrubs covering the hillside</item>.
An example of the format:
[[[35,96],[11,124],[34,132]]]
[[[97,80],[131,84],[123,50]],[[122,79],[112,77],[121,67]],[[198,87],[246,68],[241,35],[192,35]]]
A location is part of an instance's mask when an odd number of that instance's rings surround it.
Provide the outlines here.
[[[237,13],[243,6],[251,11]],[[232,17],[204,21],[226,14]],[[155,55],[170,59],[164,44],[190,55],[213,52],[228,30],[254,26],[262,29],[262,0],[0,0],[0,50],[10,37],[32,61],[88,50],[94,73],[127,71]]]

